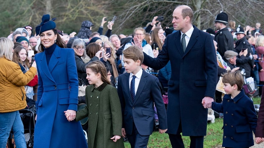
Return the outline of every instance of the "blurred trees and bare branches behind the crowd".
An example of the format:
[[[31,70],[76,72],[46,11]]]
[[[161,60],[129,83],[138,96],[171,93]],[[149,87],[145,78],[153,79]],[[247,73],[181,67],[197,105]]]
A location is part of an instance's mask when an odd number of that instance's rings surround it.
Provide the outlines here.
[[[0,0],[0,37],[7,37],[16,28],[40,24],[43,14],[50,14],[57,28],[66,33],[77,32],[84,20],[90,20],[97,31],[102,17],[117,20],[113,33],[131,34],[133,29],[145,26],[153,16],[164,16],[163,28],[172,27],[172,12],[177,5],[188,5],[194,11],[193,25],[199,29],[214,29],[214,18],[224,11],[237,25],[255,26],[264,23],[264,2],[258,0]],[[106,31],[104,25],[104,32]],[[34,32],[34,31],[33,31]]]

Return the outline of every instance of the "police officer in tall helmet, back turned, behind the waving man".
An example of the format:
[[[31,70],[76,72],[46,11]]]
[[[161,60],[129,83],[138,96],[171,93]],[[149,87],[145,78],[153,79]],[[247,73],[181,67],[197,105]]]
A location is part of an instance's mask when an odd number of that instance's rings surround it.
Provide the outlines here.
[[[228,15],[224,12],[219,13],[214,20],[214,26],[218,30],[214,35],[217,44],[217,51],[223,57],[227,50],[234,50],[234,38],[226,24],[228,23]]]

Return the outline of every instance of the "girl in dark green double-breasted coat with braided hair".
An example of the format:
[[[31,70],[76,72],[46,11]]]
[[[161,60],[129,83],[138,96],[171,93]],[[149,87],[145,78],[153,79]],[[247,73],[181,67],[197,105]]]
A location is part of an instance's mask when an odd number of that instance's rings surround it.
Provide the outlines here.
[[[85,89],[86,106],[76,113],[76,120],[88,118],[89,148],[124,148],[121,138],[122,114],[117,90],[106,77],[101,61],[86,66],[89,86]]]

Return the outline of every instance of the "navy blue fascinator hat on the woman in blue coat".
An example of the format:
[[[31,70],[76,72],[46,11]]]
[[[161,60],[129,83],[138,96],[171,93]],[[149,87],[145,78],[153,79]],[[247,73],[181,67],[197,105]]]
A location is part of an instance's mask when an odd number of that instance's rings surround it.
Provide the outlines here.
[[[49,20],[49,18],[50,18],[49,14],[45,14],[42,16],[42,19],[41,19],[42,22],[40,23],[40,25],[37,25],[35,27],[36,28],[36,35],[39,35],[44,31],[56,28],[56,24],[54,22],[54,20],[56,20],[56,18],[52,18],[51,20]]]

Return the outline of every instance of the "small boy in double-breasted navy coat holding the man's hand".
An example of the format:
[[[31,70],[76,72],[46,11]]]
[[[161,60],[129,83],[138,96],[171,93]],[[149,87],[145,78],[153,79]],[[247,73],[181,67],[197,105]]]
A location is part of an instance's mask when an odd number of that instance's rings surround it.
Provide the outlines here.
[[[212,102],[212,109],[224,113],[223,147],[246,148],[254,145],[257,114],[253,101],[242,89],[244,78],[240,71],[223,75],[223,104]]]

